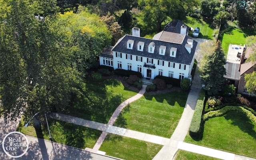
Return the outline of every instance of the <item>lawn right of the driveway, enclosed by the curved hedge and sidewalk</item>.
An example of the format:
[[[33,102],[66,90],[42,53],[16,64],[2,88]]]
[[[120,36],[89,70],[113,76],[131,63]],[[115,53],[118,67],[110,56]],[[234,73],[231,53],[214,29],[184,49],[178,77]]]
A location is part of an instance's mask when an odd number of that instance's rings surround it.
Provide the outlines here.
[[[207,120],[202,139],[187,135],[185,142],[256,158],[256,124],[244,114],[230,111]]]

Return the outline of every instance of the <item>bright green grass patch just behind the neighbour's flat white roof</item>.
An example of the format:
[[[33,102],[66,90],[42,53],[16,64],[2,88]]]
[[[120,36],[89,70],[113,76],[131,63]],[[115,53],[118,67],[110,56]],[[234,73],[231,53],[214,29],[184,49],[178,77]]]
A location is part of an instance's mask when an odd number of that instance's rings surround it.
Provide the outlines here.
[[[226,32],[223,34],[221,38],[222,48],[225,52],[225,55],[228,54],[228,47],[229,44],[242,44],[242,46],[245,44],[246,36],[240,29],[234,28],[230,30],[229,32]]]

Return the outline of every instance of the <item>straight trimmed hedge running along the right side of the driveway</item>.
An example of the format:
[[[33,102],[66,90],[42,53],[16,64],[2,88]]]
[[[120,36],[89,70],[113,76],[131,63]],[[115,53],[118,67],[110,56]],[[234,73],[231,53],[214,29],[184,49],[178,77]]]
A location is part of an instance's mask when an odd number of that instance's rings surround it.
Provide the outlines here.
[[[199,136],[201,134],[204,100],[205,100],[205,91],[204,89],[201,89],[201,92],[199,94],[199,97],[196,103],[195,112],[189,127],[189,134],[191,136]]]

